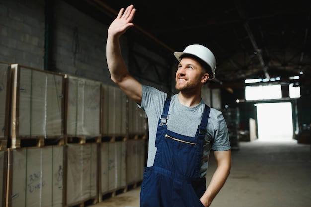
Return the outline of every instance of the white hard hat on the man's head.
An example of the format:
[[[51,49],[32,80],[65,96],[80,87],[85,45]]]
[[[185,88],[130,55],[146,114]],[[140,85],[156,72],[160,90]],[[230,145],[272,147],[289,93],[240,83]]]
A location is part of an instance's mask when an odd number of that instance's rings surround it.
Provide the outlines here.
[[[180,62],[181,56],[183,54],[192,54],[204,62],[206,62],[212,69],[211,77],[209,78],[214,79],[215,78],[215,70],[216,70],[216,59],[212,51],[208,49],[207,47],[199,44],[189,45],[185,48],[183,52],[174,52],[175,57]]]

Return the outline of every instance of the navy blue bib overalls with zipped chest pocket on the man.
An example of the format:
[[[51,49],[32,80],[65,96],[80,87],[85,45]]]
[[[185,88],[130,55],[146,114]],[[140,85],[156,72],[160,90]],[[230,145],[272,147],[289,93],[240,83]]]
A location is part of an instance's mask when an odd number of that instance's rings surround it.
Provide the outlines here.
[[[206,184],[200,169],[210,107],[205,105],[196,135],[189,137],[167,129],[170,100],[166,99],[158,123],[154,165],[144,169],[140,207],[204,207],[200,198]]]

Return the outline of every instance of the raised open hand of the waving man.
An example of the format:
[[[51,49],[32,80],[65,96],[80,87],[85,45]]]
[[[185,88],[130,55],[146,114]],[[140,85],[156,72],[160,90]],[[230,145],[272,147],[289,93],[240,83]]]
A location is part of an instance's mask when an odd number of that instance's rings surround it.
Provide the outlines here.
[[[121,36],[127,29],[133,27],[132,20],[134,19],[136,9],[133,5],[128,6],[125,10],[121,8],[117,18],[110,24],[108,34],[112,36]]]

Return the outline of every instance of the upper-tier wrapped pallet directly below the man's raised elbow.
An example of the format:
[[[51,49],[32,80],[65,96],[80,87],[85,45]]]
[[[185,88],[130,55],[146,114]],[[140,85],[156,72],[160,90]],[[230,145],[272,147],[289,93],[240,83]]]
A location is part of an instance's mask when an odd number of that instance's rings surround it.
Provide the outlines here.
[[[126,102],[120,88],[103,85],[102,136],[126,136]]]

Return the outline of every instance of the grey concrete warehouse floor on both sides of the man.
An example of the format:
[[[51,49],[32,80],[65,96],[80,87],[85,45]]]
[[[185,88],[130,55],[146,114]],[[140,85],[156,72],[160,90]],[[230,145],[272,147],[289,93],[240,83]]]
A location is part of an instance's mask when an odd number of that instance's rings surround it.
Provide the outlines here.
[[[214,170],[211,156],[207,180]],[[137,187],[91,207],[139,207],[139,193]],[[211,207],[311,207],[311,146],[294,140],[241,142]]]

